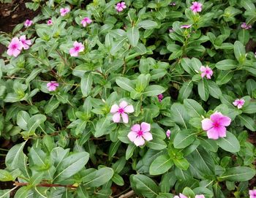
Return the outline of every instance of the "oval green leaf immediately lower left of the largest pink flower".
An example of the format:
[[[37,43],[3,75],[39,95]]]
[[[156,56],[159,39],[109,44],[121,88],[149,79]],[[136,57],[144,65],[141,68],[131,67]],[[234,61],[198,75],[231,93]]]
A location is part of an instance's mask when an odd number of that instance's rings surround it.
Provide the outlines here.
[[[188,145],[191,145],[196,138],[195,134],[197,133],[192,132],[191,129],[184,129],[178,132],[173,140],[174,148],[186,148]]]

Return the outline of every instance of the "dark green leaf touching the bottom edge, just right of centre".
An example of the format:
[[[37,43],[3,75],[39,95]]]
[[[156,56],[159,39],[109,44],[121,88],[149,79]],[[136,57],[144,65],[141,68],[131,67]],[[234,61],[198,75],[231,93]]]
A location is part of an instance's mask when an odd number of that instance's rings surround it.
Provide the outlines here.
[[[136,189],[138,189],[143,196],[148,198],[157,197],[159,187],[151,178],[148,178],[146,175],[133,175],[132,178]]]

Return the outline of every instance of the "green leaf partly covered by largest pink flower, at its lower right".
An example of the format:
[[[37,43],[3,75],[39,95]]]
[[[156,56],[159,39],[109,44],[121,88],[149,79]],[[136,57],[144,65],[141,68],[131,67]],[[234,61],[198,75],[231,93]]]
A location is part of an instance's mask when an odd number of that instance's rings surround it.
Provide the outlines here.
[[[218,140],[216,140],[217,145],[219,145],[219,147],[222,148],[223,150],[228,151],[230,153],[236,153],[240,151],[240,144],[236,139],[236,136],[230,132],[227,132],[226,135],[227,137],[221,137]]]

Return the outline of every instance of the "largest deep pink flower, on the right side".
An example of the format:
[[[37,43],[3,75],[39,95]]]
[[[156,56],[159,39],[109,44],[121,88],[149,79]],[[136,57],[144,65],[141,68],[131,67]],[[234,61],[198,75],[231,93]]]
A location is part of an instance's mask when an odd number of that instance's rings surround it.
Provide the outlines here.
[[[231,123],[231,119],[222,113],[213,113],[209,118],[202,121],[203,130],[207,131],[208,139],[217,140],[219,137],[226,137],[226,127]]]

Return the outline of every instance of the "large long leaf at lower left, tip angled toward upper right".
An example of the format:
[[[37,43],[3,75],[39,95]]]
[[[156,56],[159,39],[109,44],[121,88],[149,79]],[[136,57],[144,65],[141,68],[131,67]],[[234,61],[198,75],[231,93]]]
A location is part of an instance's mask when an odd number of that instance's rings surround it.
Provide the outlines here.
[[[59,182],[70,178],[72,175],[82,170],[88,160],[89,153],[87,152],[73,153],[61,161],[53,180]]]

